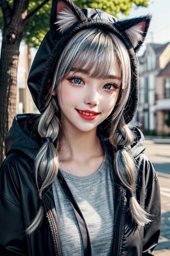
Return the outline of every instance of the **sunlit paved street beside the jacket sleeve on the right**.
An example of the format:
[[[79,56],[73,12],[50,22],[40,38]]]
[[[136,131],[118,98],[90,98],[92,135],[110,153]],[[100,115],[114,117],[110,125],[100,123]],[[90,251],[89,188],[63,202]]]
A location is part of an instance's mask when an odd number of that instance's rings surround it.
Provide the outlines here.
[[[145,154],[158,172],[162,199],[162,228],[155,256],[170,256],[170,144],[146,141]]]

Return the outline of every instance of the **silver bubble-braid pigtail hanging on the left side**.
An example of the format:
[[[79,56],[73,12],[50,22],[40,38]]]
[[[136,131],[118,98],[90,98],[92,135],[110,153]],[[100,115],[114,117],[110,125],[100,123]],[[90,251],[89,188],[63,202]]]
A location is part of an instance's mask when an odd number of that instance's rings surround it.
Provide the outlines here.
[[[41,204],[43,191],[53,183],[58,173],[58,148],[54,146],[53,142],[59,136],[59,120],[55,112],[56,104],[52,97],[45,112],[41,115],[38,125],[42,146],[35,159],[35,178],[39,191],[40,207],[35,219],[26,229],[27,234],[34,232],[40,225],[44,216],[44,208]]]

